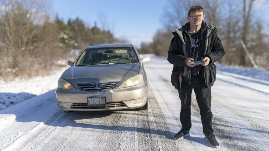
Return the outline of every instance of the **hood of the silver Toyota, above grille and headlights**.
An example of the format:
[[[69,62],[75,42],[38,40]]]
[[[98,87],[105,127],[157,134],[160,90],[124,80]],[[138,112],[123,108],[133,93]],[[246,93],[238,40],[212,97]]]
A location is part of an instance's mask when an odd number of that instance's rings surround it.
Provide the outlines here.
[[[72,66],[69,67],[61,78],[69,81],[75,87],[76,83],[87,82],[112,82],[126,79],[139,73],[141,63],[132,64],[102,64],[93,66]]]

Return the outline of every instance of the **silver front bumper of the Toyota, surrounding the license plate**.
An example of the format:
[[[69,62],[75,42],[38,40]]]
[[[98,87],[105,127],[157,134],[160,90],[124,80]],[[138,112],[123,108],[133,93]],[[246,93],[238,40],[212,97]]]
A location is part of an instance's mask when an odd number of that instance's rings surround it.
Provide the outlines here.
[[[87,97],[105,96],[105,107],[89,107]],[[114,88],[106,91],[56,90],[57,108],[63,111],[122,110],[143,107],[147,103],[147,85]]]

